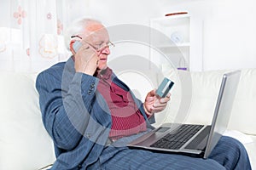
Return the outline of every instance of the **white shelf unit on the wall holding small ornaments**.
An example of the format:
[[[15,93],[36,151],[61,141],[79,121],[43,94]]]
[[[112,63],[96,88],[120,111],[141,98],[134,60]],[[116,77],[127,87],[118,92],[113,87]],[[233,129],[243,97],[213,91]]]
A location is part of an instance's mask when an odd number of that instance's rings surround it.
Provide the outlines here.
[[[158,48],[176,68],[202,71],[202,21],[190,14],[150,20],[151,47]],[[150,59],[157,58],[150,50]],[[162,57],[159,57],[162,59]]]

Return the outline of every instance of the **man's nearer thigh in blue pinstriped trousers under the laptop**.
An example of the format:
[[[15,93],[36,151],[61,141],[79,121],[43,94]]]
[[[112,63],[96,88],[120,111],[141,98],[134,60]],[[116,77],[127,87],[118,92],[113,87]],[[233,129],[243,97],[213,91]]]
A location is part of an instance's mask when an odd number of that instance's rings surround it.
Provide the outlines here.
[[[225,169],[217,161],[189,156],[124,149],[101,164],[101,169]]]

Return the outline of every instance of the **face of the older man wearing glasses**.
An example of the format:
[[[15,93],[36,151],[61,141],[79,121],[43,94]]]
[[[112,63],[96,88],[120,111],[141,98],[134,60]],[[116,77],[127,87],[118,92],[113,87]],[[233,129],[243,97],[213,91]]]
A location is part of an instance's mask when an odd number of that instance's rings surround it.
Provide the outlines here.
[[[86,27],[85,35],[83,39],[90,43],[91,48],[94,48],[99,56],[97,71],[106,69],[108,54],[110,54],[107,29],[99,23],[93,23]]]

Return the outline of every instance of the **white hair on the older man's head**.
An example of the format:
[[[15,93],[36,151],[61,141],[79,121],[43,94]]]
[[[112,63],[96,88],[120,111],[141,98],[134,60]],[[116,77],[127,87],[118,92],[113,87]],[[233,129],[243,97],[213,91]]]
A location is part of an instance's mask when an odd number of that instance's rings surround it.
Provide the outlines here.
[[[64,33],[65,38],[65,46],[70,51],[69,43],[71,41],[72,36],[76,36],[84,32],[86,26],[88,26],[91,22],[97,22],[102,24],[99,20],[93,20],[90,18],[81,18],[78,20],[74,20],[73,23],[67,27],[67,30]]]

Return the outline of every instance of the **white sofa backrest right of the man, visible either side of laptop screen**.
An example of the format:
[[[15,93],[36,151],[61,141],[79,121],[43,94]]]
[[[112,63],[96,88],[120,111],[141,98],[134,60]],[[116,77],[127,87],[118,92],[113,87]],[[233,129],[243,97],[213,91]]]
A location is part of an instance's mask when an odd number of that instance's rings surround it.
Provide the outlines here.
[[[163,122],[177,122],[183,114],[183,122],[210,124],[214,113],[218,90],[220,88],[222,76],[229,71],[178,71],[175,73],[172,69],[166,69],[165,76],[175,82],[173,87],[172,99],[168,104],[166,119]],[[180,80],[187,80],[184,88],[181,88]],[[191,79],[189,82],[188,80]],[[192,86],[192,88],[191,88]],[[256,69],[241,70],[241,80],[238,84],[236,98],[231,112],[229,129],[238,130],[242,133],[256,134]],[[186,98],[184,91],[191,91],[191,102],[189,110],[178,112],[183,98]],[[188,95],[189,98],[189,95]],[[163,117],[156,116],[157,121],[162,123]],[[181,121],[178,121],[181,122]],[[159,123],[159,124],[160,124]],[[157,124],[157,123],[156,123]],[[157,125],[159,125],[157,124]]]

